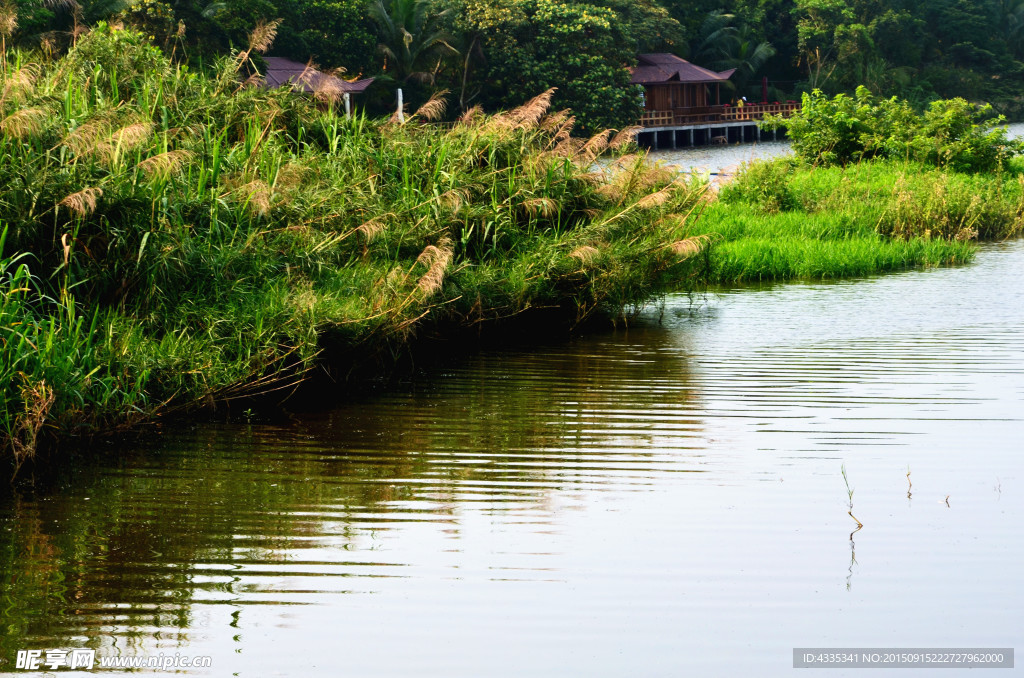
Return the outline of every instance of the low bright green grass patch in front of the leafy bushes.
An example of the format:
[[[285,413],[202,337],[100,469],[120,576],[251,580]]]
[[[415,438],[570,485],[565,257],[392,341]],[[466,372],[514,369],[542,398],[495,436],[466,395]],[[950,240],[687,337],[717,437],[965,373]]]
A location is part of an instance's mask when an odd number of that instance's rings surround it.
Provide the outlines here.
[[[1019,236],[1017,168],[958,173],[918,163],[745,166],[690,235],[715,238],[720,283],[837,279],[970,261],[980,240]]]

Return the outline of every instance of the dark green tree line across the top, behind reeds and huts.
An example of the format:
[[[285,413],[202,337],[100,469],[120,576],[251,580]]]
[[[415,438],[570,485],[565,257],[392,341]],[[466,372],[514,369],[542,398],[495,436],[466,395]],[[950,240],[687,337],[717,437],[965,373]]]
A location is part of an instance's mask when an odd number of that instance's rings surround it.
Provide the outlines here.
[[[194,67],[280,19],[272,55],[382,76],[377,112],[399,84],[414,108],[452,92],[453,114],[558,87],[581,131],[622,127],[639,114],[624,70],[670,51],[735,69],[728,94],[751,100],[863,85],[915,110],[962,97],[1024,118],[1017,0],[5,0],[0,16],[0,39],[54,54],[99,19],[125,22]]]

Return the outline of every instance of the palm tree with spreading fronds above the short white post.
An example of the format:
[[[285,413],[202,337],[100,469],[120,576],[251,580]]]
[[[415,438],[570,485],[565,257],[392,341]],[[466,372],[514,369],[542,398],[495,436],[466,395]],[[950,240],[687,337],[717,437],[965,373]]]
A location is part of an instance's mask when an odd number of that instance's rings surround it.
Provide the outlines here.
[[[446,14],[446,9],[431,12],[430,0],[374,0],[370,16],[380,32],[377,49],[384,55],[385,74],[402,83],[432,83],[441,57],[459,53],[438,28]]]

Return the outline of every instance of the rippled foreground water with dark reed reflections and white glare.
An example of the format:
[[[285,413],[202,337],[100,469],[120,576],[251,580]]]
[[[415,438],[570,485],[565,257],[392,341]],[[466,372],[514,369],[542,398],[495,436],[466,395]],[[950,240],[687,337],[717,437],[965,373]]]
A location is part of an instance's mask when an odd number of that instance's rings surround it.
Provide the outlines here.
[[[672,298],[288,425],[103,448],[0,501],[0,658],[773,676],[796,646],[1022,646],[1022,266]]]

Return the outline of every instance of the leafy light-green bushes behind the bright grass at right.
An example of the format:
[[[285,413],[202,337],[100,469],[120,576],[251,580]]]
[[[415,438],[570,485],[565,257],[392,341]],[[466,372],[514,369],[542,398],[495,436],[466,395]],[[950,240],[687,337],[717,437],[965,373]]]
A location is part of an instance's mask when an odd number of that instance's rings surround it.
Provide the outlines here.
[[[820,90],[804,94],[791,118],[768,120],[784,125],[794,152],[804,160],[845,165],[868,158],[912,160],[964,172],[988,172],[1021,153],[1024,144],[1007,136],[1001,117],[990,105],[933,101],[922,115],[905,100],[878,99],[864,87],[854,96],[829,98]]]

